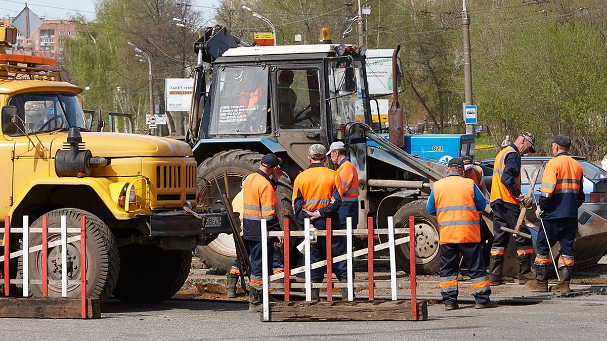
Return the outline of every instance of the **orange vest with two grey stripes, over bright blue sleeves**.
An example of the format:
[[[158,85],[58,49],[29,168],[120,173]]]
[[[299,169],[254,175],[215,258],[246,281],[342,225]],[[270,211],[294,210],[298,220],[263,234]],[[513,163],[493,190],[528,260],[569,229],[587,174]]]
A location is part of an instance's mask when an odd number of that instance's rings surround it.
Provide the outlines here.
[[[474,181],[450,176],[434,183],[440,244],[480,243],[480,215],[474,203]]]

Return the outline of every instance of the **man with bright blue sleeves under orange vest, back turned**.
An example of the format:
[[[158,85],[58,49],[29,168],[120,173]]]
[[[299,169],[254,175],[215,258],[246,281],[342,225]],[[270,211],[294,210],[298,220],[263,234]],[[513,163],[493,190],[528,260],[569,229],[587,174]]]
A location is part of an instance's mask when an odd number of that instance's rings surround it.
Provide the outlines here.
[[[458,309],[459,254],[474,288],[475,308],[495,308],[481,251],[480,214],[487,202],[474,181],[464,178],[464,162],[452,158],[447,177],[434,183],[426,210],[436,215],[439,226],[440,288],[445,310]]]

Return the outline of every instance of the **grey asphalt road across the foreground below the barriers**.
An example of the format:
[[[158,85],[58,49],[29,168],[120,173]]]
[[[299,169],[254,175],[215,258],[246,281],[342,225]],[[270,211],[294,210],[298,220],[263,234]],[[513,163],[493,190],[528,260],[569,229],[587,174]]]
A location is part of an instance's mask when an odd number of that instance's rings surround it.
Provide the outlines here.
[[[599,299],[599,297],[596,297]],[[605,303],[570,302],[502,305],[444,311],[429,305],[423,322],[260,322],[248,303],[170,300],[133,305],[110,300],[98,320],[0,319],[8,340],[504,340],[573,337],[602,339],[607,334]]]

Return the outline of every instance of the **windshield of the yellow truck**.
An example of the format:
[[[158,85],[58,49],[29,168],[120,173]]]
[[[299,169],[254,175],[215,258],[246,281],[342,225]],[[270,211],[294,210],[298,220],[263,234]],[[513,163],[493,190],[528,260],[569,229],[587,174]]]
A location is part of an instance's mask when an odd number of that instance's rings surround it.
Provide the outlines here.
[[[24,93],[10,98],[9,106],[17,108],[21,118],[18,124],[2,124],[2,129],[10,136],[24,133],[52,132],[53,130],[80,127],[88,124],[78,101],[78,96],[66,93]]]

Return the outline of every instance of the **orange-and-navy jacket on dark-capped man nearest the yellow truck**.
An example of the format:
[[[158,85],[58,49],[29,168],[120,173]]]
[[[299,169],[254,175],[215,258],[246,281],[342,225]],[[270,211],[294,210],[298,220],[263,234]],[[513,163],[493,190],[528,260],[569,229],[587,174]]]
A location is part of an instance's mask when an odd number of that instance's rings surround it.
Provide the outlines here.
[[[268,178],[259,172],[249,174],[243,188],[242,228],[245,239],[260,240],[263,218],[268,228],[277,225],[277,206],[276,193]]]

